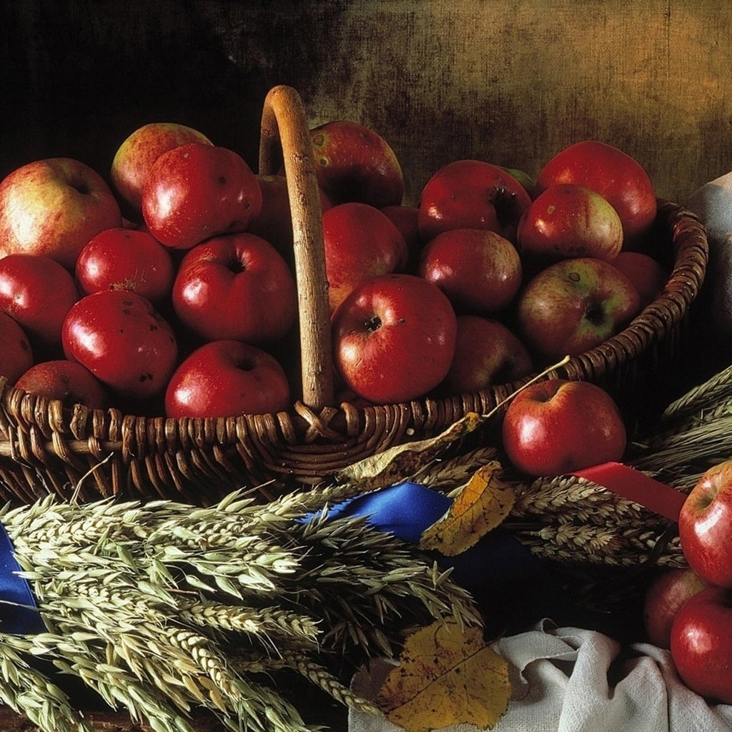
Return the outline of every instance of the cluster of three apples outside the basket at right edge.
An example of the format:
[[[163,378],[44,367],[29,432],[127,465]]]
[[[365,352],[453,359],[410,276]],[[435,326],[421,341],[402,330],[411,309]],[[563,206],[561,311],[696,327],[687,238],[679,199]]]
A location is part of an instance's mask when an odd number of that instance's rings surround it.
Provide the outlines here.
[[[649,641],[670,649],[690,689],[732,703],[732,461],[698,480],[679,512],[688,567],[661,572],[646,591]]]

